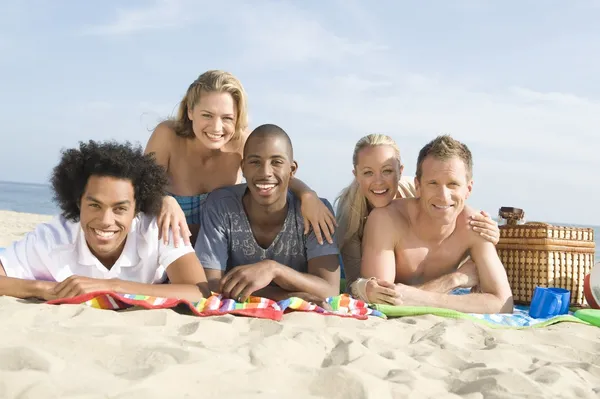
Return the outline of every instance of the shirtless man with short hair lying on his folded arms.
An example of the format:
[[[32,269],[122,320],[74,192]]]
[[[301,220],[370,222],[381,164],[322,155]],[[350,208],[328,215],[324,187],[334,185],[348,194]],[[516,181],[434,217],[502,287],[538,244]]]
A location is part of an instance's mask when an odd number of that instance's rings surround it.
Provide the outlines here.
[[[473,187],[467,146],[439,136],[423,147],[415,187],[416,198],[395,200],[369,215],[363,279],[354,294],[371,303],[512,312],[512,292],[496,248],[469,228],[477,211],[465,205]],[[474,289],[449,294],[461,287]]]

